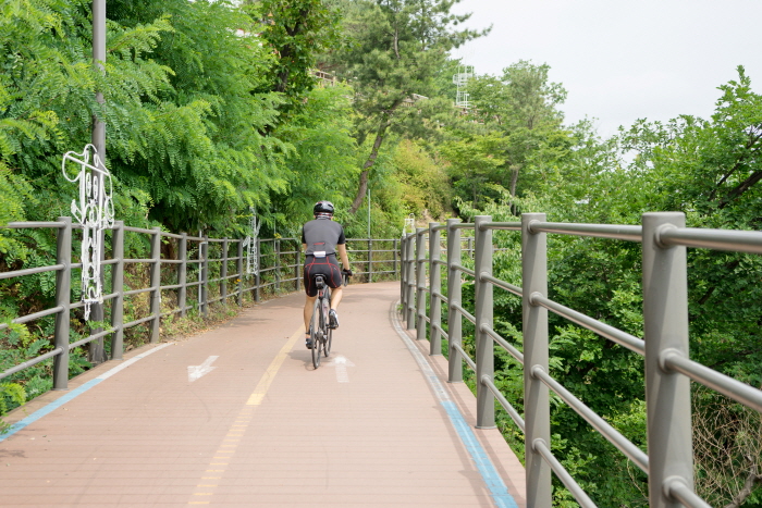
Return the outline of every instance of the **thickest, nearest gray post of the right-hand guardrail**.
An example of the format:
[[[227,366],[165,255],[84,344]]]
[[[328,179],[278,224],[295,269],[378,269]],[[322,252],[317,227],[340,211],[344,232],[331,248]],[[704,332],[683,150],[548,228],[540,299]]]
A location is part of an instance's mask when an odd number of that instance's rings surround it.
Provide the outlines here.
[[[683,506],[669,487],[693,490],[690,380],[663,365],[667,354],[688,358],[688,282],[685,247],[664,246],[664,228],[685,227],[679,212],[643,214],[643,333],[648,419],[649,506]]]

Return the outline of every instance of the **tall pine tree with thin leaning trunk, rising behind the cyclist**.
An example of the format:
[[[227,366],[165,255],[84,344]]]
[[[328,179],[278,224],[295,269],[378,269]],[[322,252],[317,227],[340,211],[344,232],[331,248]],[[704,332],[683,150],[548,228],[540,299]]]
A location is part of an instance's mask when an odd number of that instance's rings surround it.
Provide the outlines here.
[[[457,30],[470,14],[450,11],[457,0],[347,0],[348,44],[332,53],[339,75],[355,89],[358,146],[372,139],[351,211],[364,199],[368,178],[390,132],[420,114],[416,101],[433,89],[447,51],[484,32]]]

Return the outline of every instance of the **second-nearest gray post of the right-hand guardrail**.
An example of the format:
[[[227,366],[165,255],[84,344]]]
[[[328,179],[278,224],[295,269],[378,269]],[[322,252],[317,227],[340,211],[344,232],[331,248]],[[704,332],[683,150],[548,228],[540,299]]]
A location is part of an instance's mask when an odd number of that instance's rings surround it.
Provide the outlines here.
[[[534,369],[548,371],[548,310],[532,303],[532,295],[548,295],[548,238],[532,233],[532,222],[544,222],[544,213],[521,215],[521,278],[524,286],[524,414],[527,506],[552,505],[551,468],[534,449],[536,441],[551,447],[551,417],[548,386],[534,376]]]

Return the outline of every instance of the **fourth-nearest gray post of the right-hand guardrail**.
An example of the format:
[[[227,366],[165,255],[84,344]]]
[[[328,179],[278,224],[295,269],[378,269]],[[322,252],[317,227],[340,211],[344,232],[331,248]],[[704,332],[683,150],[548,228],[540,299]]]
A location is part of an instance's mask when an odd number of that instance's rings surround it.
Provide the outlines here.
[[[459,223],[458,219],[447,219],[447,337],[448,337],[448,372],[447,381],[450,383],[463,382],[463,357],[460,352],[453,346],[460,345],[463,342],[463,315],[455,310],[455,306],[460,305],[460,272],[453,268],[455,264],[460,264],[460,230],[455,225]]]

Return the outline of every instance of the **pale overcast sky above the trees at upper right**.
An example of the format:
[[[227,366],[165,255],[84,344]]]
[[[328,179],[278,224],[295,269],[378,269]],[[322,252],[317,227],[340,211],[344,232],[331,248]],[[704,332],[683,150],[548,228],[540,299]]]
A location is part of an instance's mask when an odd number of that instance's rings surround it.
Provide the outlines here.
[[[454,50],[476,74],[519,60],[550,65],[566,123],[603,137],[638,119],[709,119],[743,65],[762,92],[762,0],[462,0],[465,26],[492,32]]]

